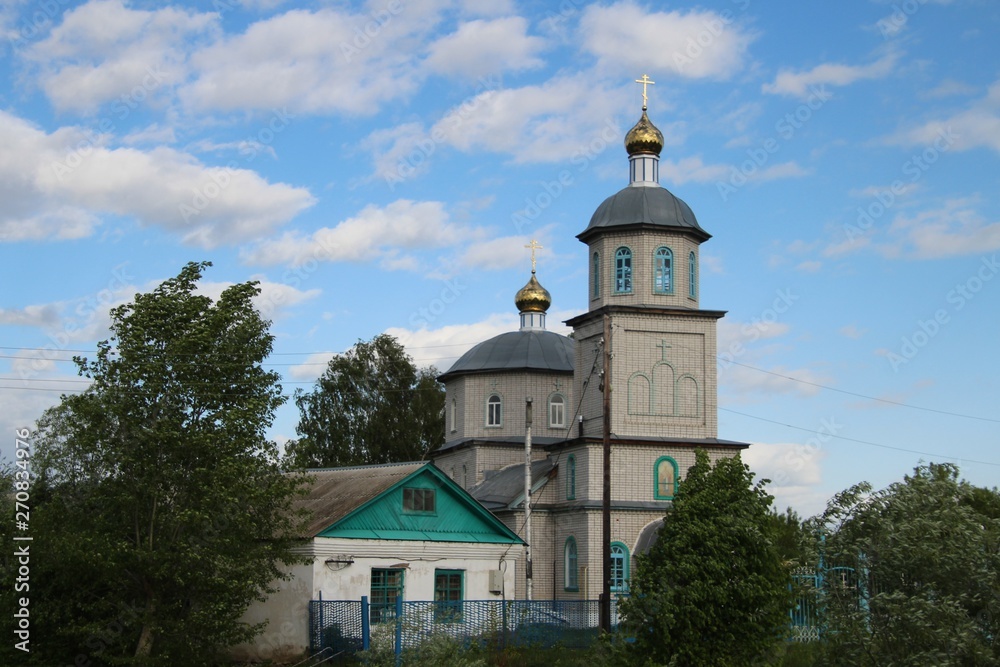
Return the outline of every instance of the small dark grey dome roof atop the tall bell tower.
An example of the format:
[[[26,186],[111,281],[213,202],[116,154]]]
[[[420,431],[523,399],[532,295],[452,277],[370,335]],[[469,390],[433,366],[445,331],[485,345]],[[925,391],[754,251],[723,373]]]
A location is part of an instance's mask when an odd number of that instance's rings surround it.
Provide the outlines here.
[[[694,211],[660,186],[626,186],[597,207],[590,224],[577,238],[584,243],[600,231],[616,227],[653,227],[688,232],[699,241],[712,235],[698,225]]]

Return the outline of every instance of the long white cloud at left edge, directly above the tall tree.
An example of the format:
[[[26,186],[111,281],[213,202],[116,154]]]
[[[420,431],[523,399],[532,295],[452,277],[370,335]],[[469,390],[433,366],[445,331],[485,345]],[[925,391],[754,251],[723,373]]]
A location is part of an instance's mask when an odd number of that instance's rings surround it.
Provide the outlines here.
[[[0,240],[79,238],[111,213],[211,248],[270,233],[314,201],[247,169],[109,142],[75,127],[46,134],[0,111]]]

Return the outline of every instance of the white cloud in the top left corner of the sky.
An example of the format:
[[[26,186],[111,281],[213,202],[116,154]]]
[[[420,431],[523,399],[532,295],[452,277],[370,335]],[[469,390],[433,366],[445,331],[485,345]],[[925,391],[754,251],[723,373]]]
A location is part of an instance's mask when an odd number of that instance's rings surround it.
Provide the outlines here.
[[[184,80],[189,40],[214,33],[218,18],[92,0],[67,11],[26,55],[39,67],[42,89],[56,109],[92,112],[117,99],[116,112],[127,115],[161,88]]]

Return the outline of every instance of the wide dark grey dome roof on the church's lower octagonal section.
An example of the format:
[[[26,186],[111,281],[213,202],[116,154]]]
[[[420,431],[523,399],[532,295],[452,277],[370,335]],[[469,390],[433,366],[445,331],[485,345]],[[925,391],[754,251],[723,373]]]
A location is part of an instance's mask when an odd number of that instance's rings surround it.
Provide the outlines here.
[[[490,371],[573,372],[575,341],[551,331],[511,331],[483,341],[459,357],[448,372],[438,376],[444,382],[458,375]]]

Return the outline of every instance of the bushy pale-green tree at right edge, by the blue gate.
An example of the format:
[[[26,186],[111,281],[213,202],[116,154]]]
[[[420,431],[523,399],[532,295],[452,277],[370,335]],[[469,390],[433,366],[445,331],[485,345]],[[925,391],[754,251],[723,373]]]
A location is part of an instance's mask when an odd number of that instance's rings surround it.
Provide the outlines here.
[[[835,496],[819,525],[829,664],[1000,663],[1000,497],[951,464]]]

